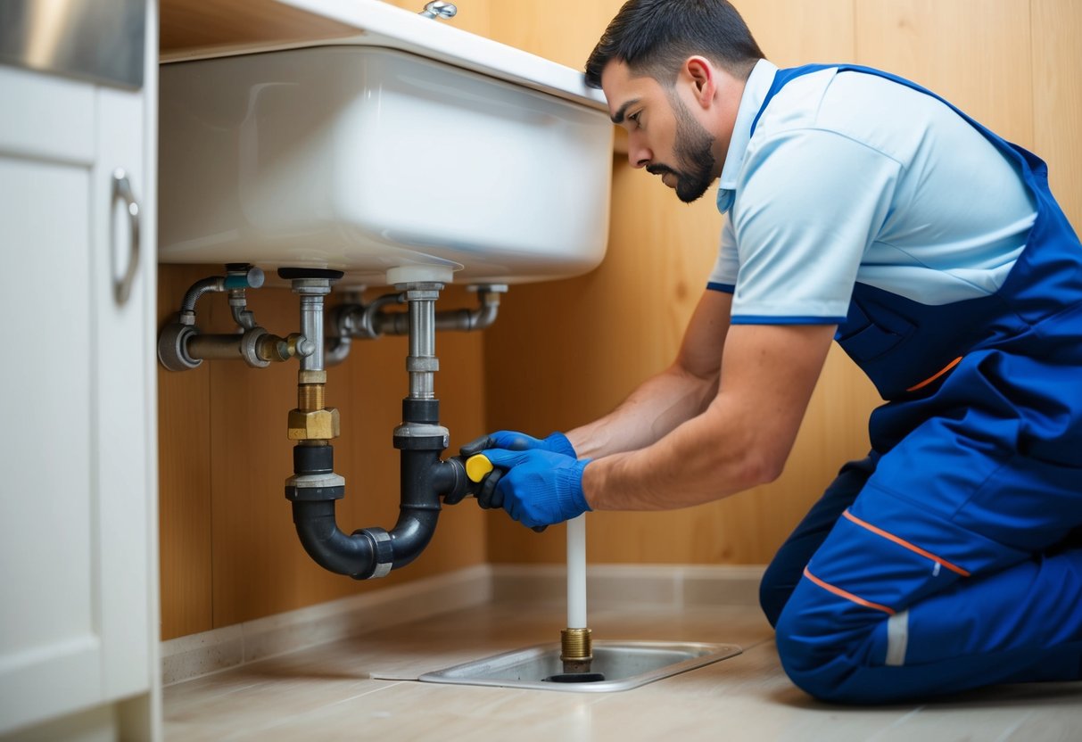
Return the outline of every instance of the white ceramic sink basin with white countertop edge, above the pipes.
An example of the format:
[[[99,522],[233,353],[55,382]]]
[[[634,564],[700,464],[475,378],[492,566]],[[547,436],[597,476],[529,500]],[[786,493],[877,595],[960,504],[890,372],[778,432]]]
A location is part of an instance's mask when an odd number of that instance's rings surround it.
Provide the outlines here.
[[[602,261],[612,125],[579,72],[377,0],[293,4],[364,32],[162,66],[161,262],[379,284]]]

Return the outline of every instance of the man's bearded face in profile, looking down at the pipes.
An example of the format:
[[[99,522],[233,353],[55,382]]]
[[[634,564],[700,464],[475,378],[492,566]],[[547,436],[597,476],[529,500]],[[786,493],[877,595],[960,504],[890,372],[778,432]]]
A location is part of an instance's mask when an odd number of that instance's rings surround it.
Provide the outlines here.
[[[612,121],[628,131],[628,161],[660,175],[686,203],[701,197],[721,168],[714,137],[695,118],[675,89],[650,77],[632,77],[622,62],[611,62],[602,89]]]

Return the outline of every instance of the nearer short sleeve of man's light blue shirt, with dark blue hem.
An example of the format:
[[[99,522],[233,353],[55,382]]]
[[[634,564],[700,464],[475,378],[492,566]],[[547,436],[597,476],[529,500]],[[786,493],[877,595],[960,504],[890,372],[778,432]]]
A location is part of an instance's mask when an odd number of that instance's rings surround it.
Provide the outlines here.
[[[730,213],[735,324],[841,323],[900,165],[842,134],[786,131],[748,149]],[[715,274],[722,276],[720,269]]]

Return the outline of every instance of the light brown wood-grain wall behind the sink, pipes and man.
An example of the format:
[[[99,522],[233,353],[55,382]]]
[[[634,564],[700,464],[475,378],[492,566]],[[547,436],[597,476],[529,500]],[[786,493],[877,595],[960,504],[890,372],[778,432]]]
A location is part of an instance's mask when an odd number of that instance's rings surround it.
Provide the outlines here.
[[[394,0],[415,10],[421,0]],[[619,0],[546,3],[460,0],[454,25],[580,68]],[[1082,4],[1073,0],[737,0],[767,56],[786,66],[853,61],[911,77],[1051,163],[1053,187],[1082,224]],[[254,13],[254,15],[253,15]],[[209,15],[208,15],[209,14]],[[269,0],[162,0],[163,51],[252,38],[348,35]],[[254,35],[254,36],[252,36]],[[544,434],[608,412],[668,365],[705,281],[721,218],[710,199],[685,206],[615,161],[609,253],[568,281],[517,287],[484,334],[440,334],[437,395],[452,447],[497,427]],[[164,319],[195,280],[219,266],[160,266]],[[454,288],[448,306],[471,304]],[[295,329],[287,290],[252,292],[270,331]],[[200,305],[200,326],[225,331],[224,297]],[[335,445],[346,477],[344,529],[390,527],[397,507],[391,432],[407,392],[403,339],[359,343],[332,369],[329,403],[342,411]],[[315,566],[296,542],[282,494],[291,472],[286,413],[295,366],[250,370],[204,363],[159,374],[162,637],[381,589],[460,567],[559,562],[563,529],[522,529],[500,513],[445,511],[433,545],[384,581],[356,583]],[[755,564],[847,458],[867,447],[871,386],[833,353],[786,474],[720,503],[658,514],[591,516],[594,562]]]

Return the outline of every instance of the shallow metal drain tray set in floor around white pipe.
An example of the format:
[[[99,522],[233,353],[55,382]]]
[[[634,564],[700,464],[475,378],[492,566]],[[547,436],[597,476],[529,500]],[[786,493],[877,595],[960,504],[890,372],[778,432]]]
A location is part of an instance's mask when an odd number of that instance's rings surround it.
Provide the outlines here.
[[[611,692],[671,677],[740,654],[740,647],[682,641],[594,641],[592,673],[604,680],[553,683],[564,672],[559,644],[538,645],[422,675],[424,683],[571,692]]]

